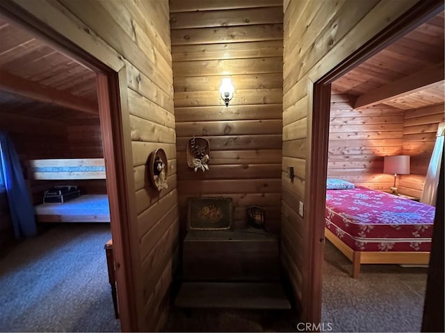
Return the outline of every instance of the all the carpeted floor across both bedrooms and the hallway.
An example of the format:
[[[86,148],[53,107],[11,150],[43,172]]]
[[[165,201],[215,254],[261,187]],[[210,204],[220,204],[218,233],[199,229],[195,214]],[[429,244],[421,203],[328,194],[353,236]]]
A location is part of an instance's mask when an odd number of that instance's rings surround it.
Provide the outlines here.
[[[57,225],[0,258],[0,332],[120,332],[106,272],[109,225]],[[322,321],[330,332],[420,332],[426,268],[351,263],[329,242]],[[296,332],[293,311],[173,308],[168,332]],[[327,325],[327,324],[330,325]],[[332,330],[331,330],[332,329]]]

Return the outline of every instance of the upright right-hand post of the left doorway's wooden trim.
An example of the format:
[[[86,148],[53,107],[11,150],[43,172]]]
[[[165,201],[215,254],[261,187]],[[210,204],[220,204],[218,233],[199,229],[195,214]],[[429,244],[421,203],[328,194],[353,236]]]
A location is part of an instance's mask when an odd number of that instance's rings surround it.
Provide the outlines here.
[[[106,187],[111,215],[111,234],[115,274],[118,284],[119,317],[122,332],[138,330],[138,287],[134,276],[138,269],[138,252],[134,248],[132,228],[136,221],[136,194],[129,134],[127,108],[127,71],[117,74],[97,74],[99,116],[106,165]],[[118,223],[115,223],[118,221]],[[133,225],[135,225],[133,223]],[[136,264],[136,265],[135,265]]]

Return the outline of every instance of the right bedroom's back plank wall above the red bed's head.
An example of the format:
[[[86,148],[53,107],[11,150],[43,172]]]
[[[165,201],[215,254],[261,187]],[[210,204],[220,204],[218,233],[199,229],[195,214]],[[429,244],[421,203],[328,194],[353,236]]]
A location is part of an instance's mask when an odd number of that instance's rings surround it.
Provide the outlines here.
[[[354,110],[354,97],[331,95],[327,176],[371,189],[389,190],[383,157],[401,155],[405,110],[379,104]]]

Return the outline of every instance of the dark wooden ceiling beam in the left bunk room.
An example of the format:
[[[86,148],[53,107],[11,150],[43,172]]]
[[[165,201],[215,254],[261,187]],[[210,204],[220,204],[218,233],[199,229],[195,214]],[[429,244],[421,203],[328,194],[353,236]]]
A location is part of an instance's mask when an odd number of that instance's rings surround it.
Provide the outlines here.
[[[6,71],[0,71],[0,89],[6,92],[25,96],[30,99],[51,103],[91,114],[99,114],[97,102],[88,101],[62,90],[54,89],[39,83],[20,78]]]

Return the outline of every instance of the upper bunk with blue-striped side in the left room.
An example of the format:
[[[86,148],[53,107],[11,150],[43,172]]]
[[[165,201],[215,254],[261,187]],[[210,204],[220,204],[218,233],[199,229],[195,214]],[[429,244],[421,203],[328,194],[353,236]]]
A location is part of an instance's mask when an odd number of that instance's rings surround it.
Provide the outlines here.
[[[29,160],[28,174],[34,180],[105,179],[103,158]]]

